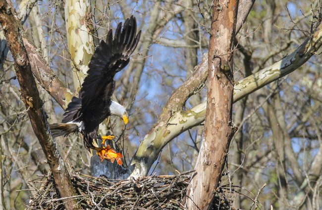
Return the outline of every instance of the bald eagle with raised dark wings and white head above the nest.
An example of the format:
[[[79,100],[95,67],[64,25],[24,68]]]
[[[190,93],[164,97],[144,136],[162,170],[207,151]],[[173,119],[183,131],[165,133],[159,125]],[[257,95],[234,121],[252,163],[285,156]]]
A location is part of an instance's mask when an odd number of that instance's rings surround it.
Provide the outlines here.
[[[63,115],[61,123],[50,125],[52,135],[67,136],[72,132],[81,132],[86,149],[95,149],[93,139],[111,139],[114,136],[98,134],[99,125],[108,116],[117,116],[128,122],[123,106],[112,101],[114,75],[130,61],[129,57],[136,48],[141,31],[136,34],[136,20],[131,16],[122,28],[119,23],[113,38],[112,30],[107,34],[106,42],[101,41],[89,63],[87,77],[82,84],[78,97],[73,97]]]

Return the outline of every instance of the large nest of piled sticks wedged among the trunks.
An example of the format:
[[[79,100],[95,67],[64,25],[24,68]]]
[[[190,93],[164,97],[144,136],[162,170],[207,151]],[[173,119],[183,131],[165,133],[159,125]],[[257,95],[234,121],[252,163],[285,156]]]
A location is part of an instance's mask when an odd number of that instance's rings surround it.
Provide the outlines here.
[[[72,199],[77,199],[82,209],[90,210],[184,210],[181,201],[185,198],[192,173],[187,171],[178,175],[144,176],[130,180],[72,175],[77,191],[77,196]],[[45,177],[41,188],[30,198],[27,210],[64,210],[64,201],[55,187],[53,176]],[[223,188],[220,189],[212,209],[231,209],[232,201],[226,199]]]

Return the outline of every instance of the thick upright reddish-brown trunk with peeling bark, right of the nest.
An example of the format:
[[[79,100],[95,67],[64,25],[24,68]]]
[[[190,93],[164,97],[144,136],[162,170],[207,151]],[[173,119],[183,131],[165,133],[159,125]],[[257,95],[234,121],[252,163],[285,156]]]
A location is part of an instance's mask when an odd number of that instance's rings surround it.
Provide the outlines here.
[[[233,40],[238,0],[215,2],[208,57],[208,98],[205,135],[195,170],[187,190],[188,210],[208,210],[226,161],[230,141],[236,131],[232,119]]]

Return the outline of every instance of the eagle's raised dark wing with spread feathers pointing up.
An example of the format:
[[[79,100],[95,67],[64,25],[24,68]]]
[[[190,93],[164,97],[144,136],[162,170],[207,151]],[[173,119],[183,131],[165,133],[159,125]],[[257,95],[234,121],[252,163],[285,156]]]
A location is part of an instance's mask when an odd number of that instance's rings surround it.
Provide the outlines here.
[[[113,39],[112,30],[107,34],[106,42],[102,41],[96,48],[89,64],[88,76],[82,84],[82,110],[93,102],[104,91],[111,97],[113,78],[128,63],[140,39],[141,31],[136,35],[136,20],[131,16],[122,28],[119,23]],[[106,88],[112,87],[107,90]],[[107,96],[107,95],[106,95]],[[105,96],[105,97],[106,97]]]

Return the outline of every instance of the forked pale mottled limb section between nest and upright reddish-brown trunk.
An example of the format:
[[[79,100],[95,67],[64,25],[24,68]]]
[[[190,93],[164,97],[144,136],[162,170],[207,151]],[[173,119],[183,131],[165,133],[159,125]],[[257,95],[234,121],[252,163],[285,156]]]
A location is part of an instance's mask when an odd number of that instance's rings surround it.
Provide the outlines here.
[[[139,177],[148,174],[162,148],[180,133],[200,125],[205,120],[206,104],[202,103],[191,110],[183,111],[185,101],[198,92],[206,83],[207,58],[198,65],[195,72],[171,95],[165,105],[159,121],[153,125],[144,137],[136,154],[130,162],[130,176]]]

